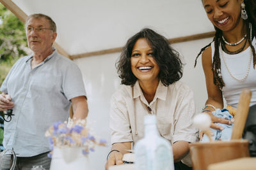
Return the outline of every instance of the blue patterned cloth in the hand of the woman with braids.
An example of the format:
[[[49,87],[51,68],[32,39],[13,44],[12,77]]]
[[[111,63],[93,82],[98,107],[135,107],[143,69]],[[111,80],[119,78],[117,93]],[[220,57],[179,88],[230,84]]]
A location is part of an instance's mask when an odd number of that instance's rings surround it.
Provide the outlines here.
[[[216,109],[215,111],[212,111],[212,115],[214,115],[214,117],[225,118],[227,120],[231,120],[233,118],[227,109],[223,109],[223,110]],[[210,128],[214,134],[212,136],[212,139],[214,141],[218,141],[221,138],[221,141],[229,141],[231,138],[231,134],[232,134],[233,124],[231,124],[231,125],[220,124],[220,123],[215,123],[215,124],[221,125],[222,127],[224,127],[224,129],[222,131],[220,131],[218,129]],[[209,142],[209,141],[210,140],[209,140],[208,136],[204,135],[201,142]]]

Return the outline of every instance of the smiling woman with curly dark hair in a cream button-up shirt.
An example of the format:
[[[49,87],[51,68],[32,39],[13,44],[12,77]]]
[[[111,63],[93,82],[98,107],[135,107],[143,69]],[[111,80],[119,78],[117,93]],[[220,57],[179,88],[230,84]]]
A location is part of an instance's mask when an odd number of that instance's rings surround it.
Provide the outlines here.
[[[179,81],[179,53],[166,38],[146,28],[128,39],[116,68],[123,86],[111,99],[112,148],[106,167],[122,164],[123,154],[143,137],[144,116],[152,114],[159,133],[173,147],[176,166],[190,169],[188,145],[198,138],[191,125],[195,102],[191,89]]]

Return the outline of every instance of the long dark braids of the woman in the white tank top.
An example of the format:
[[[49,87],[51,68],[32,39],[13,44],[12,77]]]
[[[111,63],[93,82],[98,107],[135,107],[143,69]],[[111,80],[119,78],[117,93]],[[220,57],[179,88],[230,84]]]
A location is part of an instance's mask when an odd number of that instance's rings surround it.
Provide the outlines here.
[[[247,12],[248,15],[248,19],[245,20],[246,22],[246,34],[250,35],[250,27],[249,27],[249,23],[252,24],[252,39],[253,36],[256,38],[256,1],[255,0],[244,0],[244,4],[245,4],[245,10]],[[215,32],[215,36],[212,40],[212,42],[214,42],[214,55],[213,55],[213,60],[212,60],[212,73],[213,73],[213,82],[215,85],[217,85],[220,89],[222,89],[225,86],[225,83],[222,79],[221,76],[221,63],[220,63],[220,39],[222,36],[222,31],[220,29],[218,29],[217,27],[214,26],[214,29],[216,30]],[[250,47],[252,48],[252,53],[253,53],[253,68],[255,69],[255,63],[256,63],[256,54],[255,54],[255,48],[252,45],[252,39],[250,38],[250,36],[246,36],[246,41],[249,42]],[[211,43],[212,43],[211,42]],[[207,48],[208,46],[211,46],[211,43],[209,43],[209,45],[205,46],[204,48],[202,48],[200,50],[200,52],[198,53],[198,55],[196,56],[196,60],[198,59],[198,57],[200,56],[200,54],[202,52],[204,52],[205,48]],[[195,66],[196,66],[196,60],[195,60]],[[194,66],[194,67],[195,67]]]

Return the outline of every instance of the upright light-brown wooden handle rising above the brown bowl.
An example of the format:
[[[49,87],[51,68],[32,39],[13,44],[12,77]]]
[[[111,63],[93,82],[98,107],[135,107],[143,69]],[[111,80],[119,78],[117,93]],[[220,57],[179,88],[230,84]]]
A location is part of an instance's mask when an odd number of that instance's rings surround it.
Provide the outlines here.
[[[235,115],[235,123],[232,131],[231,139],[241,139],[244,131],[244,125],[248,116],[248,110],[252,92],[248,89],[244,89],[239,97],[239,103]]]

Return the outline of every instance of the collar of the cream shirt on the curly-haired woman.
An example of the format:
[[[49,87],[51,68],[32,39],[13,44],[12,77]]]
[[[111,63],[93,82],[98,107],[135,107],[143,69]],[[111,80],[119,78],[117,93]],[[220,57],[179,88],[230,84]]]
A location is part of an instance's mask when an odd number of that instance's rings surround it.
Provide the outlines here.
[[[164,86],[161,80],[159,81],[159,84],[156,89],[156,95],[153,99],[153,101],[156,101],[157,98],[162,99],[163,101],[166,100],[168,87]],[[140,88],[140,83],[137,80],[133,87],[133,98],[137,98],[139,96],[143,96],[143,92]]]

